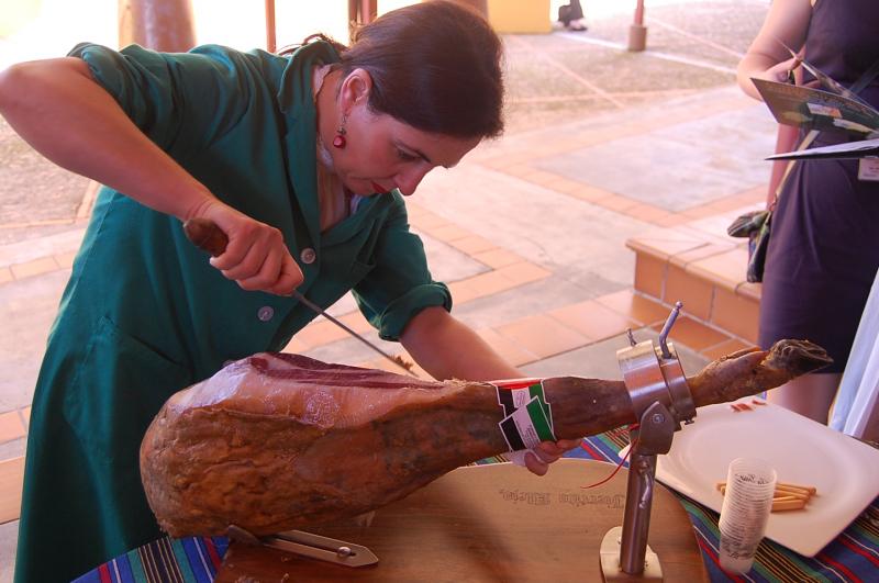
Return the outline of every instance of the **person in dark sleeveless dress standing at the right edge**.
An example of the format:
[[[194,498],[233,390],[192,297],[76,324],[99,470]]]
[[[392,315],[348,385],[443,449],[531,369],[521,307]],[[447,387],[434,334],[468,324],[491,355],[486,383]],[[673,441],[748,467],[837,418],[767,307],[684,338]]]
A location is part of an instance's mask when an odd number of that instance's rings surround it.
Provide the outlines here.
[[[759,99],[750,78],[783,81],[798,65],[785,43],[850,87],[879,59],[877,38],[875,0],[775,0],[738,66],[738,82]],[[803,71],[803,81],[814,83],[814,78]],[[870,81],[858,96],[879,108],[879,81]],[[850,139],[823,132],[811,147]],[[820,423],[827,422],[879,269],[879,182],[869,178],[869,161],[838,159],[794,162],[772,218],[759,344],[805,338],[823,346],[834,363],[771,391],[768,397]]]

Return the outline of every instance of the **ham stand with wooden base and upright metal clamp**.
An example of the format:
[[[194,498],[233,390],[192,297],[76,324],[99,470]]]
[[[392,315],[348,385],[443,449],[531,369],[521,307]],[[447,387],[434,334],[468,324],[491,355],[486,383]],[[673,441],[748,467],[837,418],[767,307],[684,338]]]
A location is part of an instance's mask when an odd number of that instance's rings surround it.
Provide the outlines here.
[[[229,535],[235,545],[218,583],[242,578],[708,581],[686,511],[655,482],[656,457],[667,453],[675,431],[696,417],[678,355],[667,341],[681,305],[671,311],[658,343],[636,343],[630,330],[631,346],[616,352],[638,419],[631,428],[625,491],[621,481],[607,480],[609,463],[592,460],[559,460],[544,478],[508,463],[458,468],[369,513],[366,522],[360,517],[315,526],[314,534],[291,530],[268,537],[232,526]],[[583,490],[587,480],[601,485]],[[622,526],[614,526],[621,509]]]

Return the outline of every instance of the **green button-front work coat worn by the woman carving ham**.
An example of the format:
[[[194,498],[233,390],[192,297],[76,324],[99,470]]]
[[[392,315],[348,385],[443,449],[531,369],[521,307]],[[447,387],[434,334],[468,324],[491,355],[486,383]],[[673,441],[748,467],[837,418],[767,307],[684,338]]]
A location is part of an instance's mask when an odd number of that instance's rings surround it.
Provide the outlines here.
[[[96,45],[71,56],[218,198],[283,233],[310,300],[329,306],[353,289],[391,340],[424,307],[450,310],[398,192],[320,232],[311,71],[337,60],[329,44],[289,57]],[[34,393],[15,581],[68,581],[162,536],[138,471],[162,404],[229,360],[282,349],[313,317],[289,298],[241,290],[179,221],[104,188]]]

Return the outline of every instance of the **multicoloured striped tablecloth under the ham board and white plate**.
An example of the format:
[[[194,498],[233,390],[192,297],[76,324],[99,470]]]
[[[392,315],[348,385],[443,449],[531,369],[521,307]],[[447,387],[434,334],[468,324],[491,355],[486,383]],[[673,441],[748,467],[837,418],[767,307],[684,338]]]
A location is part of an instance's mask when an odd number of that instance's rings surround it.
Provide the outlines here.
[[[589,437],[568,457],[617,463],[616,453],[628,444],[624,429]],[[502,458],[481,463],[502,461]],[[712,581],[879,581],[879,498],[815,557],[806,558],[770,540],[757,550],[754,568],[730,576],[719,565],[717,513],[685,497],[702,558]],[[159,539],[109,561],[77,579],[75,583],[167,583],[209,582],[225,554],[224,537]]]

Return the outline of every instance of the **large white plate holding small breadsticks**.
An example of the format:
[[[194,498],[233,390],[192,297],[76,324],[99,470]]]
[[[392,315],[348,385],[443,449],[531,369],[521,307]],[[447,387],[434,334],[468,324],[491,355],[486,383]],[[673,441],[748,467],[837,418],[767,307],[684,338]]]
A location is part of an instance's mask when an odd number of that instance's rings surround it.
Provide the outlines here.
[[[676,433],[671,450],[658,457],[656,478],[721,512],[716,483],[726,481],[730,462],[763,458],[780,482],[817,487],[805,509],[772,513],[766,527],[767,538],[814,557],[879,495],[879,450],[786,408],[752,407],[700,407],[696,423]]]

